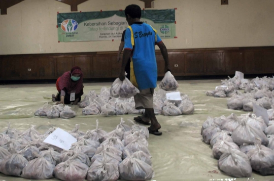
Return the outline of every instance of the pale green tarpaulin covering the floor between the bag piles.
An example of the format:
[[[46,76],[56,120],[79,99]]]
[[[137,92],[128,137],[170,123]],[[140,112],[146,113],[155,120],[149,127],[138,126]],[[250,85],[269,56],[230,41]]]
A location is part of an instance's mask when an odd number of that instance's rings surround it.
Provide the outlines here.
[[[201,125],[208,116],[228,116],[245,114],[243,111],[229,110],[226,98],[205,96],[205,92],[214,89],[220,80],[187,80],[178,81],[178,91],[187,94],[195,106],[193,115],[157,116],[162,125],[163,135],[150,135],[149,150],[153,156],[155,177],[153,180],[274,180],[274,176],[260,176],[256,173],[251,178],[232,178],[218,170],[209,145],[202,142]],[[159,83],[159,82],[158,82]],[[110,83],[86,83],[84,93],[95,90],[97,94],[102,86]],[[37,125],[37,130],[44,133],[51,126],[71,130],[75,124],[80,124],[80,130],[87,131],[95,128],[96,119],[99,127],[113,130],[120,123],[121,116],[83,116],[82,108],[73,110],[77,116],[73,119],[47,119],[35,117],[33,113],[46,102],[51,102],[51,95],[56,94],[55,84],[4,85],[0,86],[0,128],[8,123],[20,130],[26,130],[30,125]],[[125,120],[133,119],[134,115],[123,115]],[[217,170],[218,173],[211,171]],[[0,180],[24,180],[0,174]],[[29,179],[25,179],[29,180]]]

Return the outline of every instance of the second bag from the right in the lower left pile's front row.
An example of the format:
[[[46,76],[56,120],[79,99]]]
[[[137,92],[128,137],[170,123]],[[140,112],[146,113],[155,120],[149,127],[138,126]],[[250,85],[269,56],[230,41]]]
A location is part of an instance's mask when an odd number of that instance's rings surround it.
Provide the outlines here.
[[[95,160],[88,169],[87,180],[116,181],[118,180],[119,168],[110,157]]]

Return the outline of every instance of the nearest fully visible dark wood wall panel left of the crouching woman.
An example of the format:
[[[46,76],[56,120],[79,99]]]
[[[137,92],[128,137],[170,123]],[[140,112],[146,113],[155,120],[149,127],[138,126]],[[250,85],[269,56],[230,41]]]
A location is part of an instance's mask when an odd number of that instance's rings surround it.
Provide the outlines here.
[[[39,78],[52,79],[57,78],[55,74],[55,59],[54,58],[40,58],[39,59]]]

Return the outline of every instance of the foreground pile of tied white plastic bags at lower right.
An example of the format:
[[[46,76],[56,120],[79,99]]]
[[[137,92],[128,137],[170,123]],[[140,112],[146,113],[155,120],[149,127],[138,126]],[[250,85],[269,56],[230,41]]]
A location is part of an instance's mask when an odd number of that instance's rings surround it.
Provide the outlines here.
[[[213,147],[220,170],[226,174],[250,177],[253,169],[262,175],[273,175],[273,123],[269,121],[267,127],[264,120],[254,114],[241,117],[231,114],[228,117],[209,117],[201,132],[203,141]]]

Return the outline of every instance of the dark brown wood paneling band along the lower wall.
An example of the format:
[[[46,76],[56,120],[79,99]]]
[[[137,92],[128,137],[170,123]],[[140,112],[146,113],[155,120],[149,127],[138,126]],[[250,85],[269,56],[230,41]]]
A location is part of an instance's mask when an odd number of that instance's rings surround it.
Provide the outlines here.
[[[117,52],[4,55],[0,56],[0,80],[56,79],[73,66],[82,68],[84,78],[115,78],[122,63],[117,62],[116,55]],[[274,73],[274,47],[168,50],[168,57],[175,76],[228,75],[236,70],[245,74]],[[158,76],[164,76],[160,51],[156,51],[156,60]]]

